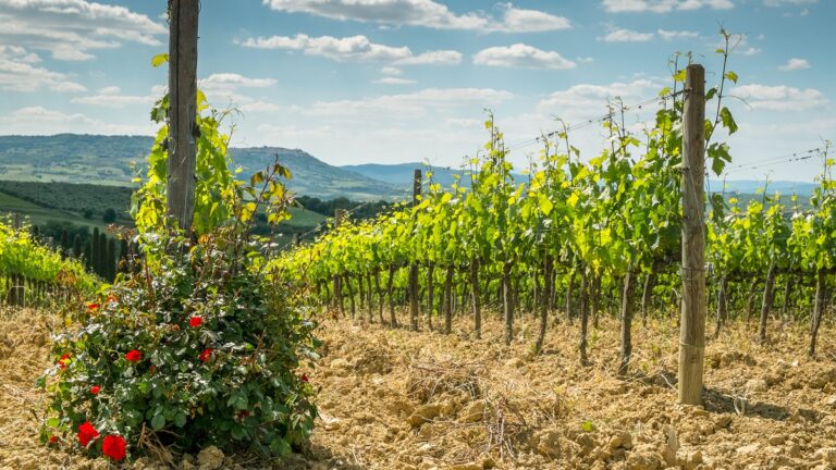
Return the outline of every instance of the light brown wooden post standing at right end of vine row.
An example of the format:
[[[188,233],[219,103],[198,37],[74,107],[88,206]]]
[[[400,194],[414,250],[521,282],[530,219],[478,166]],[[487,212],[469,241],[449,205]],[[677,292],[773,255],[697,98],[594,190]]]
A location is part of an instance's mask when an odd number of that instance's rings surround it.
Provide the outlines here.
[[[688,65],[683,115],[683,300],[679,403],[702,405],[705,355],[705,71]]]

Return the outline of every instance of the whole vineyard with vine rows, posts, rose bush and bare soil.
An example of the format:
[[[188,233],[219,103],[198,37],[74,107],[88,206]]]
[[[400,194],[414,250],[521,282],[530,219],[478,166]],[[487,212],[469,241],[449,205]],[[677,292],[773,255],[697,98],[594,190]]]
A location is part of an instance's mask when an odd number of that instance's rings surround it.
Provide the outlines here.
[[[832,145],[809,203],[706,187],[739,128],[725,30],[717,83],[677,54],[655,98],[514,145],[489,112],[452,186],[416,170],[282,245],[293,169],[233,170],[197,2],[169,9],[135,230],[0,223],[0,469],[836,468]]]

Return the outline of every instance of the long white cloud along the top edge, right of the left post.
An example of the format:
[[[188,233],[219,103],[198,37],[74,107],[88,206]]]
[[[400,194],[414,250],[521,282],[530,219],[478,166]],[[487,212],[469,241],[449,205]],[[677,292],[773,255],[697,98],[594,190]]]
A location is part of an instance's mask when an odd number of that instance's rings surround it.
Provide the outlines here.
[[[571,27],[569,20],[538,10],[500,3],[501,17],[483,12],[456,14],[433,0],[263,0],[273,10],[308,13],[339,21],[357,21],[433,29],[484,33],[534,33]]]

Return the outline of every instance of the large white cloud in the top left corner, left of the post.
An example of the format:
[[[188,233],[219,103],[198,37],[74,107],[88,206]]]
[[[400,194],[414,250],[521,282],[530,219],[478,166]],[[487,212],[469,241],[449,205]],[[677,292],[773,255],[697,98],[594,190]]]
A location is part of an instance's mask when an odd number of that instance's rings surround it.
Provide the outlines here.
[[[160,23],[127,8],[85,0],[0,1],[0,41],[47,50],[58,60],[82,61],[120,41],[161,46]]]

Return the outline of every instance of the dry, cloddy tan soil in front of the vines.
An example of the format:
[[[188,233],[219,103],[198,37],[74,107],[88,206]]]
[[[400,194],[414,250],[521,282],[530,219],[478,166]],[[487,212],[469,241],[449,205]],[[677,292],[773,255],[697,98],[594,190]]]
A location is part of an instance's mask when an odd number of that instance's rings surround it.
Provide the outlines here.
[[[37,444],[53,320],[0,311],[0,469],[108,468]],[[274,469],[836,469],[836,331],[754,326],[709,342],[704,407],[676,404],[678,331],[671,321],[634,327],[634,361],[617,378],[618,325],[590,326],[590,366],[577,360],[577,324],[553,326],[531,356],[536,323],[517,321],[514,345],[491,319],[472,339],[378,324],[325,321],[321,363],[307,371],[321,418],[310,444],[281,461],[173,456],[173,468]],[[33,413],[32,410],[35,410]],[[211,450],[211,452],[209,452]],[[209,456],[208,454],[212,454]],[[211,458],[210,458],[211,457]],[[112,466],[115,467],[115,466]],[[143,458],[124,468],[171,468]]]

